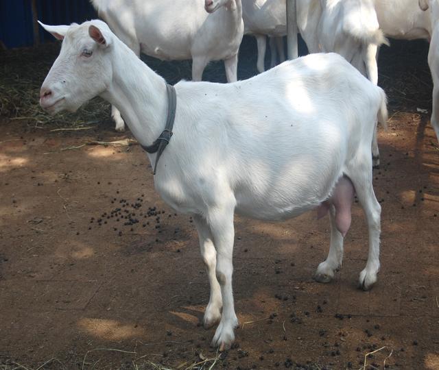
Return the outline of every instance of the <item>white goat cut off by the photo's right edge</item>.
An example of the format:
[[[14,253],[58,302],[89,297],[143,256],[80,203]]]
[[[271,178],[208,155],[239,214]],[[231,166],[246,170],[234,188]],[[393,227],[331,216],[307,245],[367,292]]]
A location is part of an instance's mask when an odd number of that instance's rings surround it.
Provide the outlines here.
[[[439,1],[419,0],[419,6],[423,10],[430,8],[431,29],[433,30],[428,51],[428,65],[433,78],[431,126],[439,140]]]

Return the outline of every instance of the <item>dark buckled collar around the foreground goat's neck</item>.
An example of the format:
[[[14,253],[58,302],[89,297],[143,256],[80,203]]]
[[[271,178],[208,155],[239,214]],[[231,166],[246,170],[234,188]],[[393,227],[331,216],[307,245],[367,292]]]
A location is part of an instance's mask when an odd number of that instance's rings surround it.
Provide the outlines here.
[[[154,175],[156,174],[157,163],[160,159],[166,145],[169,144],[172,136],[172,127],[174,127],[174,121],[176,119],[176,108],[177,108],[177,95],[174,86],[166,84],[167,92],[167,119],[165,130],[158,136],[158,138],[152,143],[152,145],[141,145],[143,150],[148,153],[157,153],[156,163],[154,164]]]

